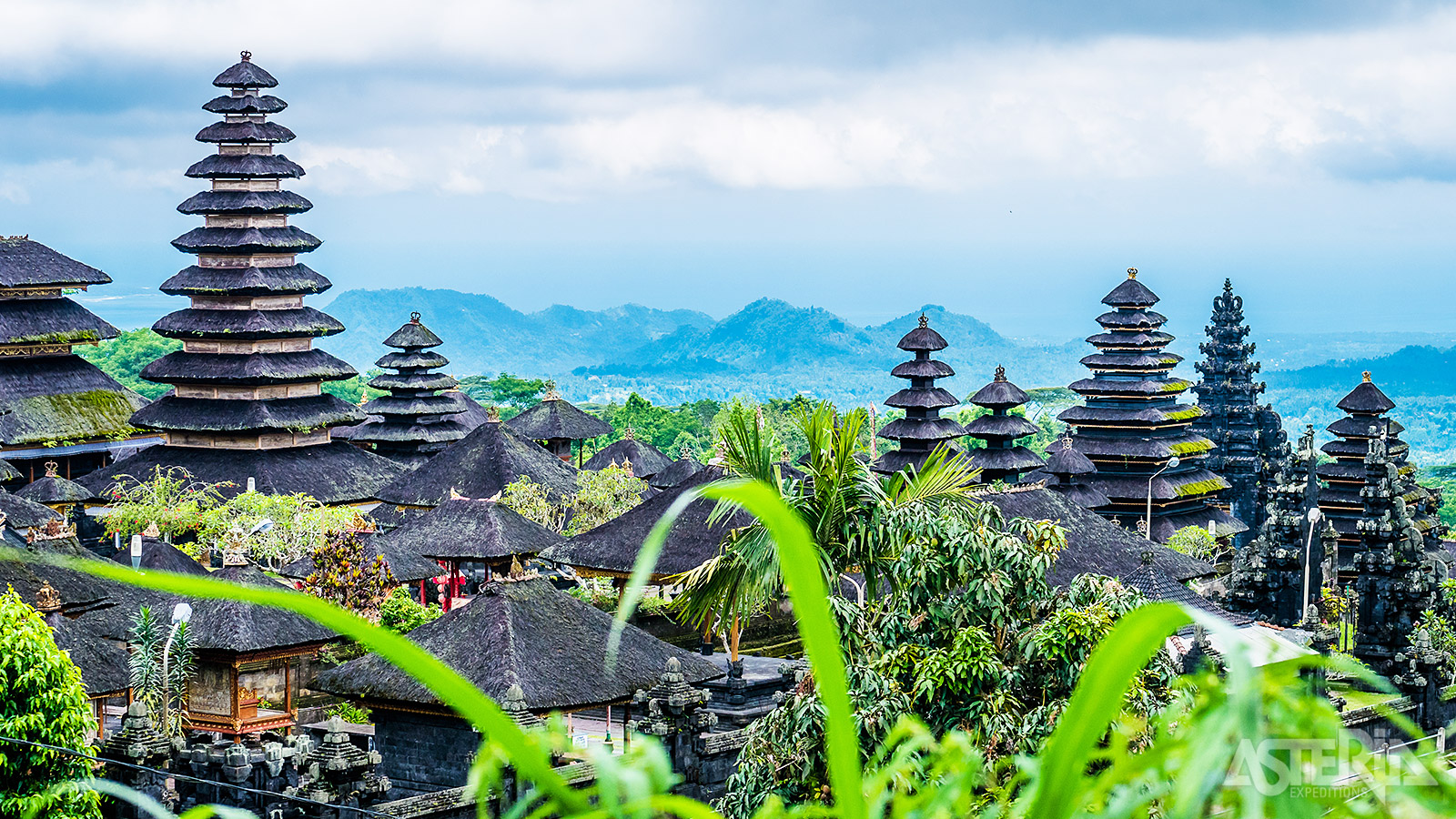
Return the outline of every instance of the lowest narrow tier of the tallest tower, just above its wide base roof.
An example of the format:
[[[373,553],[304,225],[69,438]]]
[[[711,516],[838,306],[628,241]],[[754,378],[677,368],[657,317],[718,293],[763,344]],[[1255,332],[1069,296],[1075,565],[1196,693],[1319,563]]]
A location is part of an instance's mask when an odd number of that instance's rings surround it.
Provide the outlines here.
[[[163,395],[137,410],[131,423],[154,430],[264,431],[313,430],[333,424],[357,424],[367,418],[358,407],[335,395],[303,398],[178,398]]]

